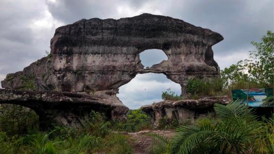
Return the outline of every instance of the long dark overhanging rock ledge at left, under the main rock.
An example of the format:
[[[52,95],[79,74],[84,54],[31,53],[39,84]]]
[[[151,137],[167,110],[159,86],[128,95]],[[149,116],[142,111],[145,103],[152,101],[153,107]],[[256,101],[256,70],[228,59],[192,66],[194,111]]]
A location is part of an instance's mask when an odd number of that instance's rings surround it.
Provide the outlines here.
[[[18,91],[0,89],[0,104],[17,104],[34,110],[39,115],[40,127],[52,124],[82,127],[91,110],[113,118],[113,105],[87,94],[57,91]],[[127,110],[121,106],[119,111]]]

